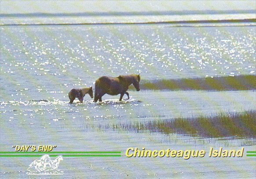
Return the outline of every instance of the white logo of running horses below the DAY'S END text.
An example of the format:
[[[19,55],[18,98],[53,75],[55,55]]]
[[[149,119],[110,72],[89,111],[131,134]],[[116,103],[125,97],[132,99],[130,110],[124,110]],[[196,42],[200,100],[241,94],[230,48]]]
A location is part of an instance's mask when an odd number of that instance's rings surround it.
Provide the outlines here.
[[[39,160],[34,160],[28,168],[29,175],[62,175],[59,170],[59,163],[63,158],[59,155],[55,160],[51,160],[48,154],[43,155]]]

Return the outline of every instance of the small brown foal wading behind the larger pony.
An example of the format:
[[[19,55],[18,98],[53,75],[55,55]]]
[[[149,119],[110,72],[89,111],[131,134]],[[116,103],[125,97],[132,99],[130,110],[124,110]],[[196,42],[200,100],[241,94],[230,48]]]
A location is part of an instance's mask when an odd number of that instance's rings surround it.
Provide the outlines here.
[[[78,98],[80,102],[83,102],[84,100],[84,95],[89,94],[91,98],[93,98],[93,91],[92,87],[90,88],[80,88],[80,89],[72,89],[69,91],[69,99],[70,99],[70,104],[73,103],[75,98]]]

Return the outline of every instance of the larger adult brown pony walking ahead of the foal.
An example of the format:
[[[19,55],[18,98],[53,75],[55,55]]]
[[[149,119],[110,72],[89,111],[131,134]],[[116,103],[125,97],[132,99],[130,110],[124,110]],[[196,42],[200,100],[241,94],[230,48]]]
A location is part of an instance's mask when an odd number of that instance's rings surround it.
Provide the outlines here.
[[[120,75],[119,77],[99,77],[99,79],[95,81],[94,102],[97,102],[98,99],[102,102],[101,97],[105,94],[121,94],[119,101],[121,101],[124,94],[126,94],[129,99],[129,93],[126,92],[128,87],[133,84],[136,90],[139,91],[139,81],[140,75],[138,74]]]

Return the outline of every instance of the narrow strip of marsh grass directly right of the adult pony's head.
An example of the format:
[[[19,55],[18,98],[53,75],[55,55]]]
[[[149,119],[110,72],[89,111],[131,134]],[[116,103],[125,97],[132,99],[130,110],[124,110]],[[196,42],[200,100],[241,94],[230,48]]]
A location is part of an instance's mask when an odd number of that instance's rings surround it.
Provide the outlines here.
[[[142,89],[150,90],[252,90],[256,89],[255,75],[241,75],[234,77],[205,77],[178,80],[142,81]]]

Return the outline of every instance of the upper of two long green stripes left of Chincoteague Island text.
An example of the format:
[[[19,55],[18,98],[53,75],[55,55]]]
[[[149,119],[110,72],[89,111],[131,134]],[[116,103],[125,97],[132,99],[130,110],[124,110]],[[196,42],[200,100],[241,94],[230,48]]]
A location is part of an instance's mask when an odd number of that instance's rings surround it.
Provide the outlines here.
[[[0,151],[0,154],[121,154],[121,151]]]

